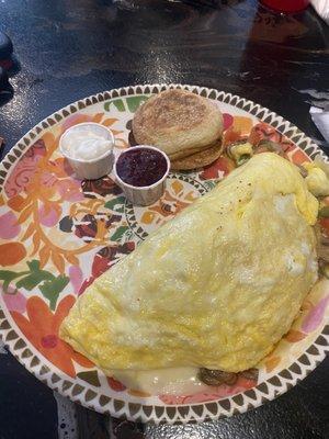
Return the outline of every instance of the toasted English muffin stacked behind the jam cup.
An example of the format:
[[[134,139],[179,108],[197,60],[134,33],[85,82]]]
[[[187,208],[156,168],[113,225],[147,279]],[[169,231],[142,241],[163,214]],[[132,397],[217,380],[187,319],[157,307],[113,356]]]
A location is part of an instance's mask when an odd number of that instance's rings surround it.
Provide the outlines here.
[[[139,106],[133,134],[137,144],[163,150],[172,169],[193,169],[220,156],[223,116],[206,98],[180,89],[167,90]]]

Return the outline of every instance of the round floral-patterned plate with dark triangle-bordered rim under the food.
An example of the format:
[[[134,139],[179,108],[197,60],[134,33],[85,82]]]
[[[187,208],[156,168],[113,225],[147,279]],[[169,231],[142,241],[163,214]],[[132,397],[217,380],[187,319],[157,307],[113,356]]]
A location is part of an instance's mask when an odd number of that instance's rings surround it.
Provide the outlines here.
[[[168,88],[214,100],[224,113],[227,140],[250,133],[270,138],[296,164],[322,155],[296,126],[243,98],[204,87],[151,85],[106,91],[57,111],[32,128],[0,167],[2,340],[30,372],[70,399],[100,413],[157,424],[217,419],[257,407],[295,385],[329,350],[326,288],[308,295],[293,328],[258,369],[196,394],[127,389],[58,338],[63,318],[98,275],[234,168],[222,157],[197,172],[171,173],[163,198],[148,207],[128,203],[111,177],[75,178],[58,150],[66,128],[101,123],[114,133],[117,153],[128,146],[138,105]]]

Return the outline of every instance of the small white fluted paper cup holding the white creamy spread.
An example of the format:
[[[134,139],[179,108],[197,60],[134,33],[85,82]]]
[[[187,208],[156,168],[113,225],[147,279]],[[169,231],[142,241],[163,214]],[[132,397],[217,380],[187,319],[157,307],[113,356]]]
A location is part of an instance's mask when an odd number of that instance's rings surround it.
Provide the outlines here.
[[[83,159],[83,158],[73,158],[70,157],[69,151],[65,148],[65,138],[69,136],[76,130],[83,130],[83,127],[88,127],[93,131],[98,136],[104,137],[104,139],[111,142],[111,147],[104,154],[93,159]],[[80,179],[86,180],[97,180],[103,176],[106,176],[111,172],[114,162],[114,154],[113,147],[115,144],[113,133],[106,128],[106,126],[98,124],[95,122],[83,122],[77,125],[71,126],[66,130],[66,132],[60,136],[59,139],[59,150],[64,155],[64,157],[68,160],[71,168],[76,172],[76,176]]]

